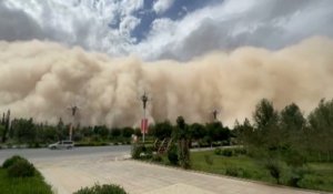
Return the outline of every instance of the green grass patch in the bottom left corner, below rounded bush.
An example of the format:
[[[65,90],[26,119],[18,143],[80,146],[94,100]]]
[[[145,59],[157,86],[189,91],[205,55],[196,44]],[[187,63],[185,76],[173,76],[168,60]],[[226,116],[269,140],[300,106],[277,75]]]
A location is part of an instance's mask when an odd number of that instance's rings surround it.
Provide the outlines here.
[[[0,193],[6,194],[52,194],[51,186],[37,173],[33,177],[8,177],[7,171],[0,169]]]

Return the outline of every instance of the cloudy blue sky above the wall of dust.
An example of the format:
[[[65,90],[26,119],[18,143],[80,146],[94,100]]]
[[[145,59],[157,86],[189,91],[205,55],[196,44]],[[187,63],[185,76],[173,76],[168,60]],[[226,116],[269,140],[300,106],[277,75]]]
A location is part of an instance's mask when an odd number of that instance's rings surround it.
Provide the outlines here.
[[[332,0],[0,0],[0,40],[189,61],[333,37]]]

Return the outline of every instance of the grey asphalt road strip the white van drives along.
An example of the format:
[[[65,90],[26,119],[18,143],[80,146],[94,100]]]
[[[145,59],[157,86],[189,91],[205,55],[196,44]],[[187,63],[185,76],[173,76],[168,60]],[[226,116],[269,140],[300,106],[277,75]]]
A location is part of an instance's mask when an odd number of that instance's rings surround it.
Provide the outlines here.
[[[0,164],[12,155],[21,155],[31,162],[46,162],[70,157],[79,159],[89,156],[93,159],[94,156],[103,155],[115,159],[118,156],[129,155],[130,151],[130,145],[73,147],[71,150],[4,149],[0,150]]]

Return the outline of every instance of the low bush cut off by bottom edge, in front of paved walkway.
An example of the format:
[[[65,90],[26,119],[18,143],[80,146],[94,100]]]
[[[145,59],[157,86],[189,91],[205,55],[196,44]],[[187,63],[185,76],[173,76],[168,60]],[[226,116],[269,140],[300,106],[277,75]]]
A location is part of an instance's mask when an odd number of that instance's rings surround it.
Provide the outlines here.
[[[127,194],[127,192],[119,185],[103,184],[94,185],[92,187],[84,187],[73,194]]]

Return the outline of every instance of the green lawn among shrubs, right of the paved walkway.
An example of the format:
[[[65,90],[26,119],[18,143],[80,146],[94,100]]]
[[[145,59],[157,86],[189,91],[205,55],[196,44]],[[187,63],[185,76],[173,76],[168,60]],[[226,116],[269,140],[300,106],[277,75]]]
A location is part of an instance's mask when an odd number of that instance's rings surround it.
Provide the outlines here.
[[[196,171],[275,183],[260,161],[245,155],[228,157],[215,155],[213,151],[192,152],[191,162]],[[281,165],[281,182],[287,185],[292,170],[283,163]],[[306,173],[299,182],[300,187],[333,192],[333,163],[309,163],[304,169]]]

